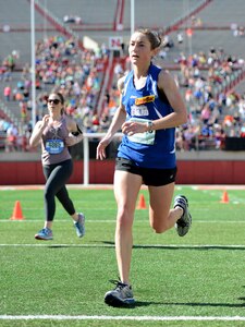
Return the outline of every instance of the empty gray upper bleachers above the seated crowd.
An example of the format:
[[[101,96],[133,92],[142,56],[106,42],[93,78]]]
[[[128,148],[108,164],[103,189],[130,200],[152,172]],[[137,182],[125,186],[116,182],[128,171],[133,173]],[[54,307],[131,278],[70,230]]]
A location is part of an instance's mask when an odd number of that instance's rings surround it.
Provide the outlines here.
[[[37,10],[38,7],[42,11]],[[71,0],[69,2],[59,0],[59,5],[54,0],[36,0],[36,40],[44,40],[61,34],[62,28],[58,28],[60,24],[64,28],[73,29],[75,37],[81,40],[84,36],[88,36],[99,46],[105,44],[108,47],[109,37],[122,36],[126,48],[131,35],[131,1],[103,0],[99,1],[99,9],[97,0]],[[244,9],[243,0],[232,2],[230,0],[154,0],[154,4],[147,0],[135,0],[135,27],[147,26],[162,35],[164,32],[169,33],[169,37],[173,40],[173,47],[168,50],[167,57],[161,62],[167,69],[176,66],[181,52],[185,52],[186,56],[200,51],[208,53],[210,48],[223,49],[225,53],[243,59],[245,37],[234,36],[231,26],[234,24],[243,26]],[[81,17],[81,22],[78,24],[64,23],[65,15],[77,15]],[[57,19],[58,25],[52,23],[53,17]],[[194,20],[198,20],[199,23],[195,25]],[[3,1],[0,22],[0,60],[3,61],[13,50],[20,53],[16,71],[8,81],[13,89],[21,77],[22,66],[30,62],[30,1],[19,0],[19,7],[16,7],[15,0]],[[9,32],[4,32],[5,26],[10,27]],[[186,35],[186,28],[192,28],[191,37]],[[184,38],[181,45],[177,44],[179,32],[183,34]],[[243,94],[245,82],[242,80],[240,82],[235,85],[235,90]],[[15,112],[15,116],[19,117],[17,104],[4,101],[5,85],[7,82],[0,82],[0,99],[12,113]]]

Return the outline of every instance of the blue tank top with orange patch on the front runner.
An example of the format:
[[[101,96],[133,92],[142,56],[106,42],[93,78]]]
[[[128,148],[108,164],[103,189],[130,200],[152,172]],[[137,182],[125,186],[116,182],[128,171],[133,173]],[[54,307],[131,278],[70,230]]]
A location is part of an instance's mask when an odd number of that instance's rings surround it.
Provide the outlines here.
[[[125,106],[126,120],[147,122],[173,112],[167,98],[157,87],[161,69],[150,64],[146,84],[143,88],[134,86],[134,72],[124,81],[122,104]],[[176,166],[175,129],[124,135],[118,149],[118,157],[133,160],[138,167],[171,169]]]

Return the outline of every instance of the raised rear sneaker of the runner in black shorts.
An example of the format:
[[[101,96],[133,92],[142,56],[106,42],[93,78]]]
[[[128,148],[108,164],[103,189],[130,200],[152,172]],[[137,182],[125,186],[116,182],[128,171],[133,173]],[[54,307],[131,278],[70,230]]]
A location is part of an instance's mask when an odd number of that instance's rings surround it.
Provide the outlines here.
[[[192,216],[188,211],[188,201],[184,195],[177,195],[174,198],[173,207],[181,207],[183,209],[182,217],[176,221],[175,228],[177,231],[179,237],[184,237],[191,226],[192,226]]]

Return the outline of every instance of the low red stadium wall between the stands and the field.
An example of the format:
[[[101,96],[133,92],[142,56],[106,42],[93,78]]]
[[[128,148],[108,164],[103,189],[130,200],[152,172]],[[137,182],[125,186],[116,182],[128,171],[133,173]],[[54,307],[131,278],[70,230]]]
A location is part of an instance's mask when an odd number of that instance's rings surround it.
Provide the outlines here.
[[[19,160],[0,158],[0,185],[44,184],[41,164],[36,155],[23,154]],[[32,159],[30,159],[32,158]],[[245,184],[245,153],[191,152],[177,154],[177,184]],[[83,160],[74,161],[71,184],[84,183]],[[112,184],[114,160],[90,160],[89,183]]]

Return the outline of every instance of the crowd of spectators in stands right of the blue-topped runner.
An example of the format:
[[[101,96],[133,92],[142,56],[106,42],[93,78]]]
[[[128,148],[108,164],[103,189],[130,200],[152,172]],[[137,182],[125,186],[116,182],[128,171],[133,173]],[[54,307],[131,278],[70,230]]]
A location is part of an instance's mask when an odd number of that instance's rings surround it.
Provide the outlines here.
[[[244,59],[211,48],[177,62],[180,85],[189,121],[177,130],[177,148],[223,148],[225,137],[243,137],[245,124],[245,94],[234,92],[234,81],[244,75]]]

